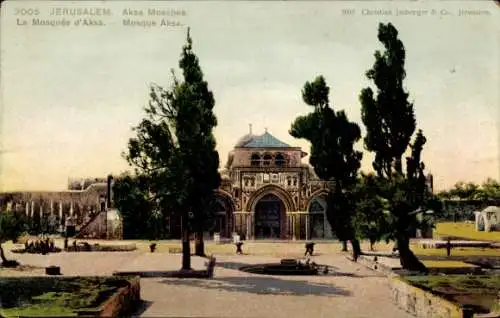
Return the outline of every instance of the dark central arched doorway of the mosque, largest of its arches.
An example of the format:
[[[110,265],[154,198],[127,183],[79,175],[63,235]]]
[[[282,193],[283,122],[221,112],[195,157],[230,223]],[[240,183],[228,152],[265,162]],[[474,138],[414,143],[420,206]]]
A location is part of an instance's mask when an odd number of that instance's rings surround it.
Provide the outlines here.
[[[255,206],[255,238],[281,238],[285,204],[275,194],[266,194]]]

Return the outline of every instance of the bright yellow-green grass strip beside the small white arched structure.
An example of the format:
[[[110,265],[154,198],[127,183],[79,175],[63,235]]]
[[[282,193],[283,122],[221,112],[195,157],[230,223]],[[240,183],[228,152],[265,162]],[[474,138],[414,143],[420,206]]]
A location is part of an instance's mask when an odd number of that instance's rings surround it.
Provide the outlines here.
[[[500,242],[500,231],[479,232],[476,231],[475,225],[470,223],[438,223],[436,224],[433,235],[435,238],[453,236],[468,240]]]

